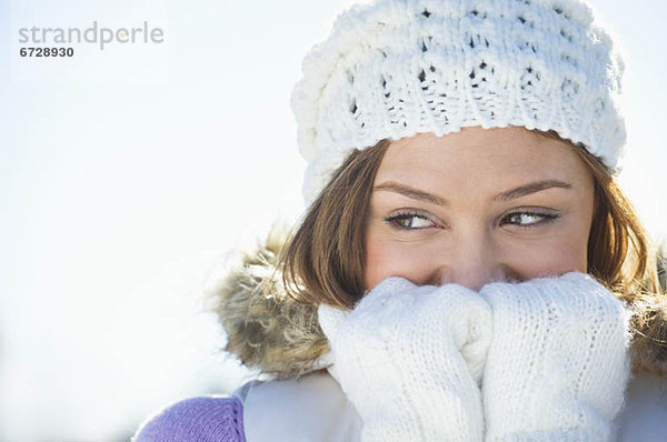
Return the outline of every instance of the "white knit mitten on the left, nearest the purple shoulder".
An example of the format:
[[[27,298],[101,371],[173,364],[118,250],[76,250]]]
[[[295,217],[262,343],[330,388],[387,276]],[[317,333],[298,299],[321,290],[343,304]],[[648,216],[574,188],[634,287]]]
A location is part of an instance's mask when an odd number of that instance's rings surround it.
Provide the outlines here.
[[[478,293],[389,278],[354,310],[318,313],[364,441],[482,440],[478,382],[492,330]]]

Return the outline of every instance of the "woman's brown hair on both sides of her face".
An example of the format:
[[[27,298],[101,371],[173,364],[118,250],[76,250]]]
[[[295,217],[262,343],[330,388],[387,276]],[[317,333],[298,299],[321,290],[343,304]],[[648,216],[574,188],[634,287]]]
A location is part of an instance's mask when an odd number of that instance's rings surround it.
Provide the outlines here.
[[[555,131],[536,132],[565,142],[594,177],[588,273],[626,300],[659,293],[648,234],[609,170],[581,145],[561,139]],[[291,298],[349,309],[362,294],[367,211],[388,145],[389,141],[382,140],[352,151],[308,208],[278,258]]]

